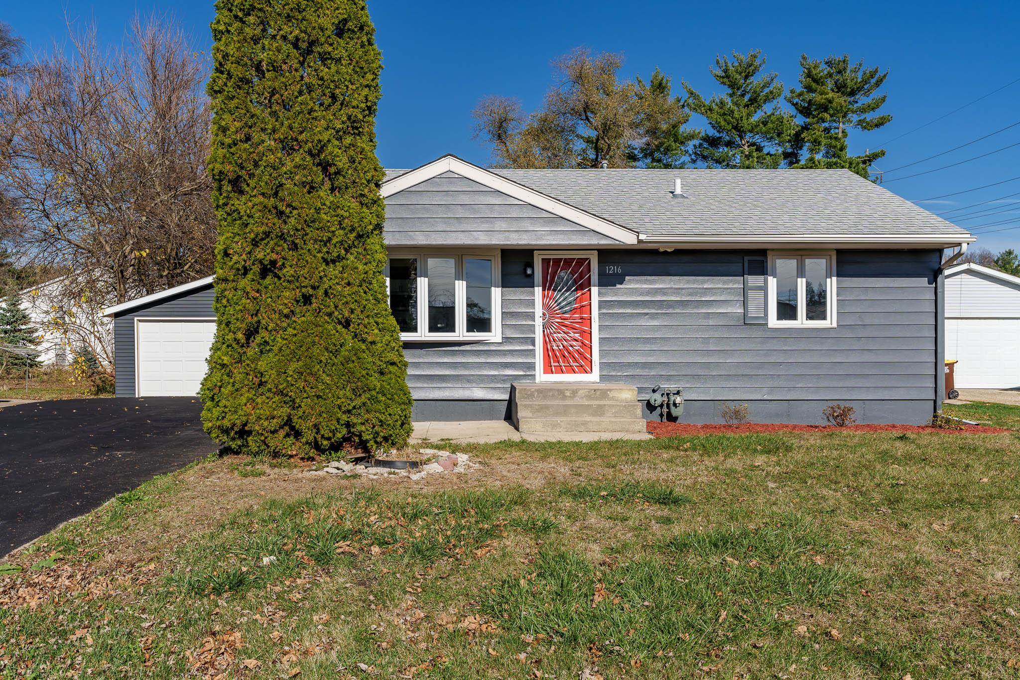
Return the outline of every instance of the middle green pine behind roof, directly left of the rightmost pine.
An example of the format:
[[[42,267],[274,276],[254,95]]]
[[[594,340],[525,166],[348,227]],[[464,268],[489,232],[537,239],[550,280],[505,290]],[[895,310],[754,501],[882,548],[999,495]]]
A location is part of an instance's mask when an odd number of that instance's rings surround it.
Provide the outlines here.
[[[686,105],[708,119],[711,132],[695,144],[693,155],[708,167],[775,168],[789,157],[796,124],[782,110],[783,85],[764,73],[760,50],[733,58],[719,56],[712,76],[725,88],[708,101],[687,83]]]

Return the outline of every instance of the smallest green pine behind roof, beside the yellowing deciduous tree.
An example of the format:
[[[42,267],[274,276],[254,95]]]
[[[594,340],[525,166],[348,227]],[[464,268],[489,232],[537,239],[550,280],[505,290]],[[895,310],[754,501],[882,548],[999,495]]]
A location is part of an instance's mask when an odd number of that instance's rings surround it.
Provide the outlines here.
[[[636,97],[640,103],[636,121],[641,137],[630,152],[631,161],[641,167],[685,167],[691,144],[701,130],[685,127],[691,113],[679,97],[671,93],[672,83],[658,68],[648,84],[639,77]]]

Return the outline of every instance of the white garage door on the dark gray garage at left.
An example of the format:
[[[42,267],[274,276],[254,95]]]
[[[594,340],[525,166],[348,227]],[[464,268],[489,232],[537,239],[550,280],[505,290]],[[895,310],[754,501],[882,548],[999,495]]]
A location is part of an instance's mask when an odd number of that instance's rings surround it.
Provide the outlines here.
[[[205,377],[216,322],[138,322],[138,396],[194,397]]]

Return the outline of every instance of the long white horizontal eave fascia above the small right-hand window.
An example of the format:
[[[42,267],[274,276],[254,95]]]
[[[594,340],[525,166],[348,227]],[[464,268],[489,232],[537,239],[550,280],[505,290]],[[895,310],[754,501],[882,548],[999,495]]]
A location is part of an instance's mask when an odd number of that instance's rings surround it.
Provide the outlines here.
[[[783,246],[788,246],[792,244],[804,244],[808,246],[818,246],[818,245],[833,245],[833,246],[885,246],[888,248],[892,247],[903,247],[903,248],[920,248],[920,247],[930,247],[930,248],[951,248],[957,247],[961,244],[970,244],[977,241],[975,237],[970,234],[964,236],[948,236],[944,233],[935,234],[903,234],[903,233],[877,233],[877,234],[861,234],[861,233],[825,233],[825,234],[769,234],[769,236],[755,236],[755,237],[742,237],[740,234],[721,236],[721,237],[676,237],[676,236],[651,236],[645,238],[645,243],[657,244],[657,245],[673,245],[673,246],[697,246],[697,245],[714,245],[714,246],[735,246],[735,245],[751,245],[751,246],[772,246],[780,244]]]

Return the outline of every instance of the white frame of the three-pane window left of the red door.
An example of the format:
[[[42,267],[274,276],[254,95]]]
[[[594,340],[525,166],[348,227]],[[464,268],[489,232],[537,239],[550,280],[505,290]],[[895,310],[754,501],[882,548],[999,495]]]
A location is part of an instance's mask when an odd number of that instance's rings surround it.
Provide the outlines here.
[[[390,260],[417,259],[418,265],[418,331],[400,334],[406,343],[501,343],[503,342],[503,285],[500,264],[500,251],[472,249],[429,249],[407,250],[394,249],[387,253],[386,293],[387,304],[390,301]],[[454,260],[456,330],[449,333],[428,331],[428,258],[447,258]],[[464,259],[489,260],[493,263],[493,330],[489,333],[469,333],[467,328],[467,281],[464,277]]]

